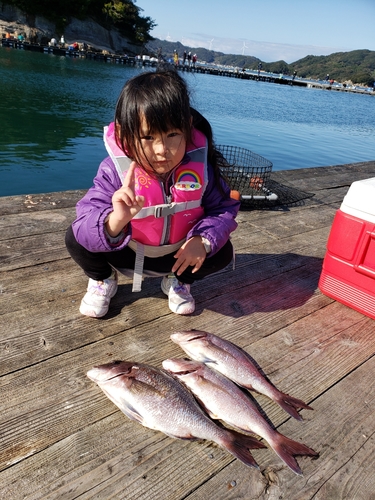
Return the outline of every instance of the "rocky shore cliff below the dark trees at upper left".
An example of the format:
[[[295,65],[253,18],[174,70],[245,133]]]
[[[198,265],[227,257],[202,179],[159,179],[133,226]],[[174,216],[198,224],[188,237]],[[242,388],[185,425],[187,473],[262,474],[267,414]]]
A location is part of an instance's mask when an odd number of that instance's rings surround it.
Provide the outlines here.
[[[51,21],[25,14],[17,7],[0,2],[0,35],[5,37],[6,33],[13,36],[23,34],[26,40],[41,44],[48,44],[51,38],[60,40],[63,35],[67,44],[86,42],[95,49],[115,54],[139,54],[142,50],[142,47],[131,43],[117,30],[107,30],[93,19],[81,21],[72,18],[64,33],[58,33]]]

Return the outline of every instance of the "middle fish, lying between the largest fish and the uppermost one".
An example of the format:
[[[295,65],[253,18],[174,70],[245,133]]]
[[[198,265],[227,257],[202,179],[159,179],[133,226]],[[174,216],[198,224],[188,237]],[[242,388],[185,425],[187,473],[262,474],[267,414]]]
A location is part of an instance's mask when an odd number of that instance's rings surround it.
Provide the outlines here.
[[[302,475],[302,470],[294,458],[296,455],[319,455],[308,446],[289,439],[274,429],[248,393],[204,363],[172,358],[163,361],[163,368],[191,390],[211,418],[223,420],[242,432],[251,432],[265,439],[296,474]]]

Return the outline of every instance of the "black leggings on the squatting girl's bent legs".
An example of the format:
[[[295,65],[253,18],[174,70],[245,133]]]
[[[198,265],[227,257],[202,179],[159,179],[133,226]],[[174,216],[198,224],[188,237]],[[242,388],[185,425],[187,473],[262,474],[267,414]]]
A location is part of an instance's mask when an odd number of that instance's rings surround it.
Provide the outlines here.
[[[72,259],[83,269],[86,276],[95,281],[102,281],[108,278],[112,273],[112,267],[115,269],[134,269],[135,252],[129,247],[122,250],[113,250],[110,252],[90,252],[80,245],[75,239],[72,227],[66,232],[65,244]],[[175,252],[164,255],[163,257],[145,257],[144,269],[161,274],[170,274],[176,261],[173,255]],[[203,262],[202,267],[195,272],[191,272],[193,266],[189,266],[178,276],[182,283],[192,284],[196,280],[201,280],[206,276],[224,269],[233,259],[232,243],[228,240],[226,244],[215,255],[208,257]],[[111,267],[112,266],[112,267]]]

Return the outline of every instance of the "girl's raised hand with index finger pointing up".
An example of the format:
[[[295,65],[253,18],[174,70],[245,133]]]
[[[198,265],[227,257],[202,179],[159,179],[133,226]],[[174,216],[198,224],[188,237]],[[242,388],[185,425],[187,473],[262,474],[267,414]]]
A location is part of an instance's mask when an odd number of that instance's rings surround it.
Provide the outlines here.
[[[123,186],[112,196],[113,212],[108,216],[106,229],[110,236],[117,236],[143,208],[144,196],[134,193],[134,170],[136,163],[130,164]]]

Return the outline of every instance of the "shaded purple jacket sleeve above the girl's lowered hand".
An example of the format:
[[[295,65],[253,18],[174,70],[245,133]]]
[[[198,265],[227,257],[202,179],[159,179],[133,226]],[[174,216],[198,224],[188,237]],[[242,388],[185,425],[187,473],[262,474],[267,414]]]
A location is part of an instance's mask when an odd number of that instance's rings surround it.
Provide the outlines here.
[[[230,188],[224,179],[220,179],[220,182],[224,196],[215,183],[213,167],[208,165],[208,184],[202,200],[205,213],[187,234],[187,239],[202,236],[210,242],[211,252],[207,257],[220,250],[237,228],[235,218],[240,209],[240,202],[230,198]]]

